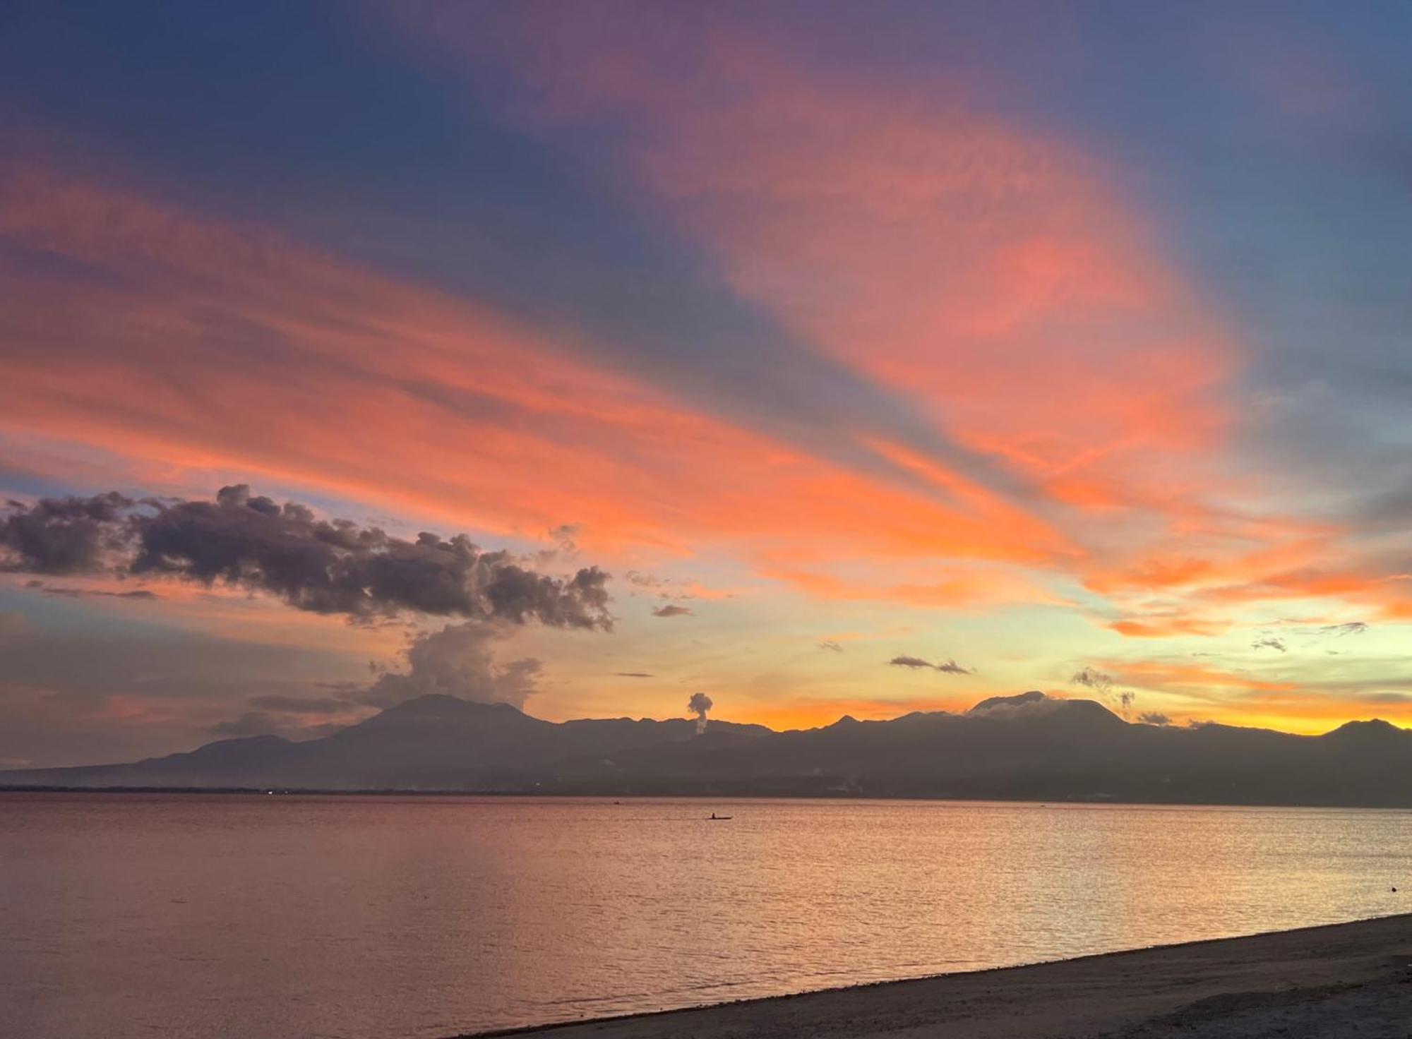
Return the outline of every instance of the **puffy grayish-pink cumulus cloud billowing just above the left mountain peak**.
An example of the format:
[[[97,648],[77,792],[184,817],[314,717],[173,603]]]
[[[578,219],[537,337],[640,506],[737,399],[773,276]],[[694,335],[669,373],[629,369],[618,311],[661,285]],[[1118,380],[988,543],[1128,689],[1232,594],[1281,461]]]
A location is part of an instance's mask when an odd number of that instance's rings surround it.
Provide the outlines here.
[[[429,693],[522,707],[535,692],[542,665],[532,656],[497,663],[493,647],[501,635],[494,625],[473,621],[418,635],[407,649],[405,672],[384,672],[350,696],[373,707]]]

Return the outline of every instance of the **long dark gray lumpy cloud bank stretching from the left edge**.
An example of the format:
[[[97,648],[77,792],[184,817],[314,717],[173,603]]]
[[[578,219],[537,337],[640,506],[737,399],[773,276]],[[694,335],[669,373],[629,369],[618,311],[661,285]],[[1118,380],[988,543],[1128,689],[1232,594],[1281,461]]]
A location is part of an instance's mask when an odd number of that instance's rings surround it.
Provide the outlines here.
[[[613,627],[609,575],[596,566],[572,577],[537,573],[463,534],[405,541],[349,520],[318,520],[305,505],[277,504],[244,484],[222,487],[215,501],[134,501],[116,493],[10,501],[0,552],[7,570],[222,583],[354,620],[422,613]]]

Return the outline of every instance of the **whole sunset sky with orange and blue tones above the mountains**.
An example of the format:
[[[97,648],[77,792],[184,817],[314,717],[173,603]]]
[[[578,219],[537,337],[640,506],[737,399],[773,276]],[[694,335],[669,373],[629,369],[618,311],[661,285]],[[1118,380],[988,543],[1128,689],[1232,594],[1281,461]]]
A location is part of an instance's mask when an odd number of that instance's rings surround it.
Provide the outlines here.
[[[6,4],[0,767],[424,692],[1412,726],[1409,41]]]

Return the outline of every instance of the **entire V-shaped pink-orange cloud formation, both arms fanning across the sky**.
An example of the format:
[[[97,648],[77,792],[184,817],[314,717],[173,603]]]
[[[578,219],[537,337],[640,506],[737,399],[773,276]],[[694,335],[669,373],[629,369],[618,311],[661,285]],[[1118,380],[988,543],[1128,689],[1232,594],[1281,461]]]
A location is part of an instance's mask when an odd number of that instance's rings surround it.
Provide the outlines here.
[[[505,535],[575,522],[586,552],[719,549],[832,600],[1065,604],[1051,587],[1076,579],[1107,600],[1076,608],[1141,638],[1303,596],[1412,618],[1405,583],[1334,559],[1346,532],[1262,510],[1234,472],[1240,346],[1082,148],[940,78],[899,103],[729,16],[683,38],[642,11],[675,41],[665,76],[611,18],[489,40],[448,17],[438,45],[460,32],[532,82],[527,123],[630,128],[616,172],[642,205],[1014,491],[871,431],[839,436],[895,479],[823,460],[592,363],[582,329],[42,167],[0,182],[0,236],[65,261],[4,271],[21,462],[92,483],[103,452],[134,484],[229,473]]]

